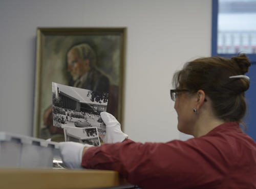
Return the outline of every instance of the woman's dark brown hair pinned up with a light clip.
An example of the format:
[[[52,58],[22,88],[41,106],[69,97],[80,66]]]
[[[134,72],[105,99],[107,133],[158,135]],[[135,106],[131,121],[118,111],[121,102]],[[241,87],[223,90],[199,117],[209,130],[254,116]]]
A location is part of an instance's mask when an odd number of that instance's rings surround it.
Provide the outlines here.
[[[245,54],[237,57],[207,57],[187,62],[176,72],[173,85],[188,89],[190,93],[203,90],[211,99],[214,113],[225,122],[242,122],[246,113],[244,92],[250,82],[244,78],[230,79],[230,76],[244,75],[251,65]]]

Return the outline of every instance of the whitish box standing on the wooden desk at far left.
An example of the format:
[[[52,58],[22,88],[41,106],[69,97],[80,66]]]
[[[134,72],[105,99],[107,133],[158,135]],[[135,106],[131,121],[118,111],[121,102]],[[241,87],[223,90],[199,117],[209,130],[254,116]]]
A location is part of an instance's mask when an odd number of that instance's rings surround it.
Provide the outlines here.
[[[52,168],[58,143],[0,132],[0,168]]]

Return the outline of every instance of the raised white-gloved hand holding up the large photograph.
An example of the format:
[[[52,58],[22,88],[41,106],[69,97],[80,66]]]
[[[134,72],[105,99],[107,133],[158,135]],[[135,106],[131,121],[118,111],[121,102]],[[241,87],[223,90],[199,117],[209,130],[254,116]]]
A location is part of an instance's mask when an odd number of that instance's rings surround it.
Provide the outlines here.
[[[101,136],[104,143],[122,142],[128,135],[121,131],[120,123],[108,112],[100,113],[101,119],[106,125],[106,134]]]

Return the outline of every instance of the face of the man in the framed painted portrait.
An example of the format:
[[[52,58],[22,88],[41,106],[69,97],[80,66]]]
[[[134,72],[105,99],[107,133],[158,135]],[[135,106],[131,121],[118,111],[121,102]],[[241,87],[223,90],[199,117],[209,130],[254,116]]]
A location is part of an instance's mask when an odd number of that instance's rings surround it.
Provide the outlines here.
[[[83,75],[83,61],[74,49],[68,52],[67,60],[68,72],[71,74],[73,80],[75,81]]]

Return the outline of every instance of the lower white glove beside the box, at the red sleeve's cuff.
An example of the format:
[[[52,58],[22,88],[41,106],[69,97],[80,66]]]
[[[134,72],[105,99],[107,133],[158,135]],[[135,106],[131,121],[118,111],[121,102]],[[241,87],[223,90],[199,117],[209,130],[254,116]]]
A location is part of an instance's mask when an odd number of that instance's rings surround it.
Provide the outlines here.
[[[67,168],[82,169],[82,151],[85,147],[90,148],[93,145],[84,145],[72,141],[59,143],[60,157],[63,164]]]

